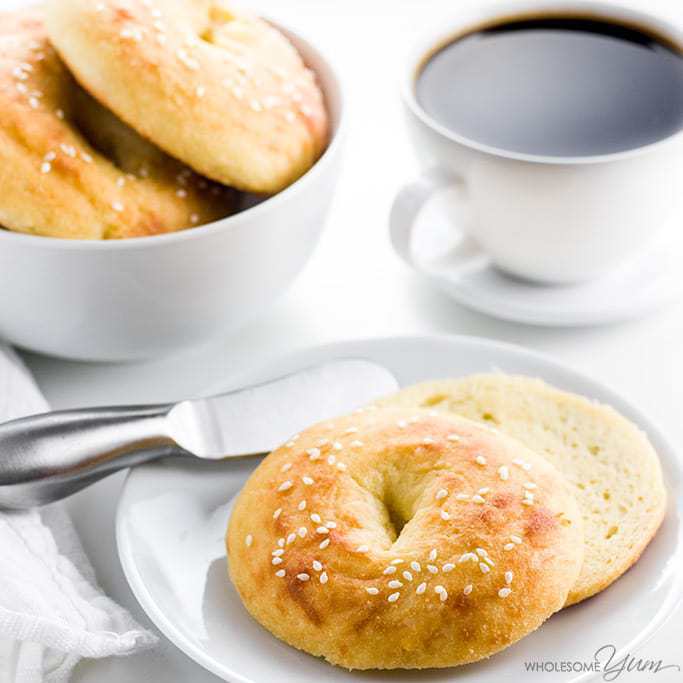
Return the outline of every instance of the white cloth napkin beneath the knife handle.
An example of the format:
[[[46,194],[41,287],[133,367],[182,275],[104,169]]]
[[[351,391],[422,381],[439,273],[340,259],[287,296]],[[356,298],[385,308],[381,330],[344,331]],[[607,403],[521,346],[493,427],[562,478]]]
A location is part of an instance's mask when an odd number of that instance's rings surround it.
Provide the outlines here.
[[[0,346],[0,422],[45,410],[26,367]],[[0,512],[0,683],[60,683],[83,657],[156,640],[102,593],[62,506]]]

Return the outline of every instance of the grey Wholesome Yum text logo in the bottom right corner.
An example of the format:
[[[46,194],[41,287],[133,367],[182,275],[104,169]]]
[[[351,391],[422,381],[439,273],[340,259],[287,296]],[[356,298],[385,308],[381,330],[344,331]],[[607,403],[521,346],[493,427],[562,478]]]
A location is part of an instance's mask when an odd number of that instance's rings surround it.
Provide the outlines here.
[[[598,648],[591,661],[524,662],[524,668],[528,673],[601,673],[602,680],[608,683],[633,673],[658,674],[667,670],[681,670],[680,665],[665,664],[661,659],[636,659],[629,653],[617,658],[617,648],[614,645],[603,645]]]

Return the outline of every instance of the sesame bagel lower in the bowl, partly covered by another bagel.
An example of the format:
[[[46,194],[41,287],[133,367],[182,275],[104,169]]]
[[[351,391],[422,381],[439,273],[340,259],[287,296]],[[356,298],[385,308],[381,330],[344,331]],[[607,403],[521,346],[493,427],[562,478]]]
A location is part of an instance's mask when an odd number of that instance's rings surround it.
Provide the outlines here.
[[[0,14],[0,225],[49,237],[172,232],[237,207],[93,100],[50,46],[40,10]],[[204,189],[202,189],[204,188]]]

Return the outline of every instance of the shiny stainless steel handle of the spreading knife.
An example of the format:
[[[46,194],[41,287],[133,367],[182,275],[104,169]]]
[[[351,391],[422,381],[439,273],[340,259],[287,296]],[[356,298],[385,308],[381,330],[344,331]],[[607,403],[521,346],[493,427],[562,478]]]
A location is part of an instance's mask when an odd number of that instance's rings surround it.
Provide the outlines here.
[[[62,410],[0,424],[0,508],[45,505],[131,465],[183,453],[167,429],[172,407]]]

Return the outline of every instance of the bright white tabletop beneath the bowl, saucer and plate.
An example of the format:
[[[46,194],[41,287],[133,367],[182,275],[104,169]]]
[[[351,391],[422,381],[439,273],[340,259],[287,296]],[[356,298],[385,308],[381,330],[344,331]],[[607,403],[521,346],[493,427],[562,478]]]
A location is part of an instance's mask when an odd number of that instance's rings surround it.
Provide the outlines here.
[[[166,401],[200,392],[245,364],[323,341],[457,333],[493,337],[552,354],[611,385],[649,414],[683,451],[683,301],[646,319],[611,327],[515,325],[457,306],[405,268],[390,250],[388,208],[396,189],[415,169],[396,92],[400,56],[421,26],[463,4],[261,0],[258,6],[265,12],[325,45],[347,81],[352,122],[345,171],[314,258],[259,322],[181,356],[135,365],[94,365],[25,354],[52,406]],[[683,26],[683,5],[677,0],[632,4],[674,17],[678,13]],[[122,480],[121,475],[111,477],[68,505],[104,589],[153,628],[128,589],[116,555],[113,517]],[[683,665],[682,632],[683,614],[678,614],[639,656]],[[628,682],[650,677],[622,678]],[[163,638],[151,653],[85,662],[75,679],[80,683],[218,680]],[[662,672],[655,677],[658,683],[681,679],[683,673]]]

